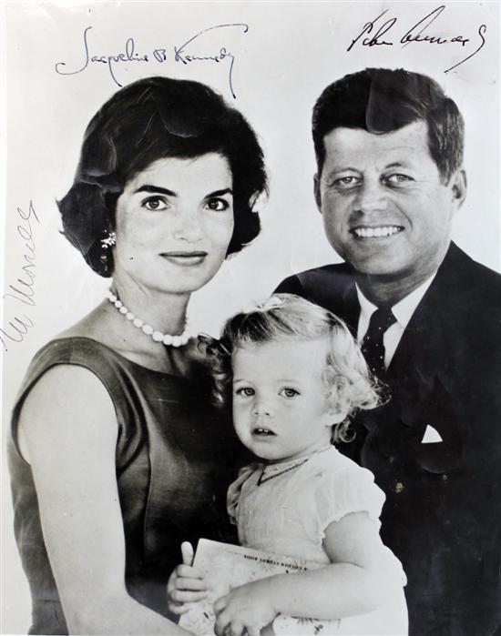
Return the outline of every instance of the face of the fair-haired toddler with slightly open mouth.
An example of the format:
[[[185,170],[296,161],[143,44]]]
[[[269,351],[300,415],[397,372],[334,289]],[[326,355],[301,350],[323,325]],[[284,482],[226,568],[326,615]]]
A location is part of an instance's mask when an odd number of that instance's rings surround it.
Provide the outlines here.
[[[233,423],[261,459],[295,459],[331,440],[332,413],[322,381],[324,340],[297,338],[237,349]]]

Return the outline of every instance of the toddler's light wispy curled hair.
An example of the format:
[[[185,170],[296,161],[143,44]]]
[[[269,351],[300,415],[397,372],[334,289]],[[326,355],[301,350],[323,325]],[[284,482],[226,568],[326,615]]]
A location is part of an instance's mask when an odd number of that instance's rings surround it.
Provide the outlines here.
[[[220,406],[231,399],[231,357],[239,348],[267,342],[325,340],[323,381],[327,404],[346,413],[332,428],[332,441],[352,439],[350,419],[359,409],[381,403],[377,380],[370,374],[362,352],[343,323],[330,311],[293,294],[275,294],[261,307],[230,318],[219,342],[210,347],[214,396]],[[305,422],[307,426],[307,422]]]

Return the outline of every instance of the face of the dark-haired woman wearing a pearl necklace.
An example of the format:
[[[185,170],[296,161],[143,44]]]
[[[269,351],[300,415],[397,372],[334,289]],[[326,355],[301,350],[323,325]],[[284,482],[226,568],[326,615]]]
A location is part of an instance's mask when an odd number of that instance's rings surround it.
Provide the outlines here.
[[[189,294],[212,278],[233,232],[232,176],[217,153],[158,159],[117,201],[116,278]]]

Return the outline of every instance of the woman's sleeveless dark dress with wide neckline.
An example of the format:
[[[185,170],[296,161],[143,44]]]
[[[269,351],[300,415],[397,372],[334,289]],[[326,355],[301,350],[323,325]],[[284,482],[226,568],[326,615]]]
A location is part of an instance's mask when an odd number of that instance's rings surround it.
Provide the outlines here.
[[[26,396],[48,368],[59,364],[88,368],[113,401],[128,593],[169,616],[166,584],[181,562],[180,543],[196,543],[199,537],[231,540],[224,501],[235,465],[230,423],[210,407],[209,377],[202,363],[187,379],[141,367],[90,338],[61,338],[42,348],[28,368],[8,441],[15,538],[33,601],[29,633],[67,633],[31,468],[16,445]]]

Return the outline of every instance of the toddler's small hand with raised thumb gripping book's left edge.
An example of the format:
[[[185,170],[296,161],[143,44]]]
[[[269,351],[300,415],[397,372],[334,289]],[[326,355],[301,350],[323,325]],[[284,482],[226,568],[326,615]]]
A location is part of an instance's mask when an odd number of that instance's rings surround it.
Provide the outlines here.
[[[203,575],[191,565],[193,548],[188,541],[181,544],[181,554],[183,563],[173,570],[167,584],[169,611],[178,616],[189,610],[185,603],[205,599],[208,591]]]

